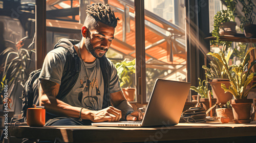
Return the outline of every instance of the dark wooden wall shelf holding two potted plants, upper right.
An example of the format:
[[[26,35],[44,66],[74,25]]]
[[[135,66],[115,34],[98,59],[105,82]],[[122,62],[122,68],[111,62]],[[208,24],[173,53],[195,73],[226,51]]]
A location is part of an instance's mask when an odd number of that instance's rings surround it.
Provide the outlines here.
[[[204,38],[206,40],[216,40],[214,36]],[[244,42],[244,43],[256,43],[256,38],[247,38],[244,34],[236,35],[221,35],[221,41],[233,41],[233,42]]]

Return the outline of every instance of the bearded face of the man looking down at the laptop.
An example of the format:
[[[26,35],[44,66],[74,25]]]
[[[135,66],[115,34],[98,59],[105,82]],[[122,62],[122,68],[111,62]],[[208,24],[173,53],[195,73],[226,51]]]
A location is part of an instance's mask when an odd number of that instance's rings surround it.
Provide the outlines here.
[[[109,50],[114,39],[115,28],[98,22],[98,25],[89,32],[85,39],[88,52],[95,58],[101,58]]]

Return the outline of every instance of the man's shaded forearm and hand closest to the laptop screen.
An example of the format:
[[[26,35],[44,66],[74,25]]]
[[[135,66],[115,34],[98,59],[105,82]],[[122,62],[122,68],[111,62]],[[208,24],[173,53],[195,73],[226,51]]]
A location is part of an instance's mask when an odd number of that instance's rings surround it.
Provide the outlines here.
[[[110,97],[113,106],[122,111],[122,119],[127,121],[141,121],[143,119],[144,113],[142,113],[141,110],[134,111],[132,105],[123,96],[122,91],[111,93]],[[133,112],[125,118],[127,111]]]

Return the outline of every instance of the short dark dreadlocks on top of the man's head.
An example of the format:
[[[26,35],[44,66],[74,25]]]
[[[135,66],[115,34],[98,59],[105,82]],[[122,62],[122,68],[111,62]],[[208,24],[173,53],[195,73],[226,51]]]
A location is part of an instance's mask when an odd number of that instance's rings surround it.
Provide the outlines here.
[[[101,3],[97,3],[89,5],[87,6],[86,12],[88,16],[92,16],[96,21],[100,21],[114,28],[117,26],[117,20],[119,18],[115,17],[114,11],[111,10],[109,4],[102,5]]]

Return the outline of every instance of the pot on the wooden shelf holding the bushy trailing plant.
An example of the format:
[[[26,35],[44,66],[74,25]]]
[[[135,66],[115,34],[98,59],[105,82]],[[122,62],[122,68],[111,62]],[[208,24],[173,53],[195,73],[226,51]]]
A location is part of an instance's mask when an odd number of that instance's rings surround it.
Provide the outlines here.
[[[236,31],[237,23],[233,21],[221,22],[220,23],[220,35],[234,35]]]

